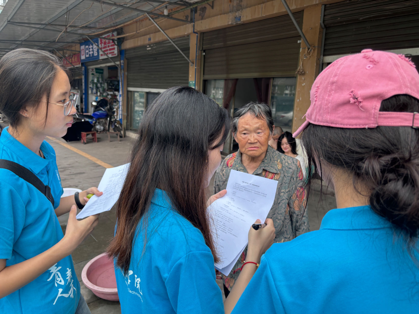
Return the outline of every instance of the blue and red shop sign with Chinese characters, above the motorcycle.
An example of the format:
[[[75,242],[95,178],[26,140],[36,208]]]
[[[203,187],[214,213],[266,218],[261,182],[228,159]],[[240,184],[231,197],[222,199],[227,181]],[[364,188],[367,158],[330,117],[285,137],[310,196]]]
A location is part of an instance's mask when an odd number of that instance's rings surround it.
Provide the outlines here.
[[[116,36],[116,32],[106,34],[103,37],[112,36]],[[92,41],[96,45],[94,45],[90,40],[80,44],[81,62],[105,59],[106,55],[99,51],[98,47],[102,49],[102,51],[105,52],[108,57],[116,57],[118,55],[118,47],[114,44],[114,41],[103,38],[94,38]]]

